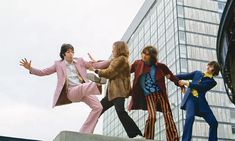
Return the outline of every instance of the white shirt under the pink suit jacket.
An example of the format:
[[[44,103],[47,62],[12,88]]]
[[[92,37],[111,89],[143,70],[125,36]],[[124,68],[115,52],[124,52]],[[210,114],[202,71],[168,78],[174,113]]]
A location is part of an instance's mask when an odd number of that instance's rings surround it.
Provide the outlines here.
[[[68,63],[66,60],[64,60],[64,62],[66,65],[67,80],[69,87],[80,85],[81,81],[79,80],[78,71],[74,64],[75,61],[73,61],[71,64]]]

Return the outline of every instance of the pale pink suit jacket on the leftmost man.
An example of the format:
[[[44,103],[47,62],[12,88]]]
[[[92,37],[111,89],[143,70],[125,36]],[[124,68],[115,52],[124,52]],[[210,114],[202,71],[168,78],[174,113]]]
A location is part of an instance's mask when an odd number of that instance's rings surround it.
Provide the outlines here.
[[[75,58],[75,66],[77,68],[77,71],[80,73],[81,77],[84,79],[85,83],[88,83],[89,80],[87,79],[87,69],[89,67],[89,62],[83,60],[83,58]],[[101,61],[97,63],[93,63],[93,67],[95,69],[104,69],[107,68],[110,64],[110,61]],[[36,69],[36,68],[31,68],[30,73],[37,75],[37,76],[45,76],[45,75],[50,75],[53,73],[57,73],[57,86],[53,98],[53,105],[52,107],[59,106],[59,105],[64,105],[64,104],[70,104],[72,103],[68,98],[67,98],[67,92],[68,92],[68,87],[67,87],[67,77],[66,77],[66,65],[64,61],[59,60],[55,61],[54,65],[52,65],[49,68],[46,69]]]

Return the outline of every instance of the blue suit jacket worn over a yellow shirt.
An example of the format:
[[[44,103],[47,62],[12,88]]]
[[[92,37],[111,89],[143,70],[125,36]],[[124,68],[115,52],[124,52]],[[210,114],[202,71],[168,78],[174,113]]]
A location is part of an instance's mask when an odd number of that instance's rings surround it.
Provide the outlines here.
[[[209,77],[203,77],[204,74],[201,71],[194,71],[186,74],[176,75],[180,80],[192,80],[189,87],[184,95],[184,98],[181,102],[181,109],[186,109],[186,102],[189,98],[192,98],[191,89],[195,89],[198,92],[198,102],[199,102],[199,113],[207,113],[211,111],[207,101],[206,101],[206,92],[216,86],[216,81]]]

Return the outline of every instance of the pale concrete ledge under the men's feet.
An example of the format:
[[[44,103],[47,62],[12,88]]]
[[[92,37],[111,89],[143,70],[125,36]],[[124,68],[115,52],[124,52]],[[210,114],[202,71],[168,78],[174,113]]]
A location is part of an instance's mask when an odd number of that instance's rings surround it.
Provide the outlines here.
[[[110,137],[96,134],[82,134],[79,132],[62,131],[53,141],[151,141],[145,139],[130,139],[122,137]]]

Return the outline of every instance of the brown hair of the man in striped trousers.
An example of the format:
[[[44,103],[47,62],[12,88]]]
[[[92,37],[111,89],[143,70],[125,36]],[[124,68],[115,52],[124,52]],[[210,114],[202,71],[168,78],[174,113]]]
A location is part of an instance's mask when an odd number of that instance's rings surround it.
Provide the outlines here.
[[[148,45],[146,47],[144,47],[144,49],[142,50],[142,53],[149,53],[150,55],[150,63],[151,64],[155,64],[158,60],[157,60],[157,55],[158,55],[158,51],[154,46]]]

